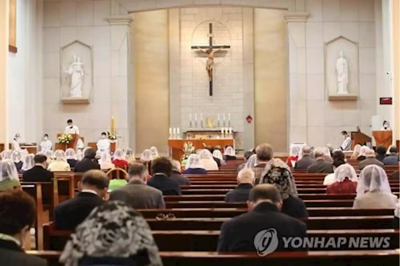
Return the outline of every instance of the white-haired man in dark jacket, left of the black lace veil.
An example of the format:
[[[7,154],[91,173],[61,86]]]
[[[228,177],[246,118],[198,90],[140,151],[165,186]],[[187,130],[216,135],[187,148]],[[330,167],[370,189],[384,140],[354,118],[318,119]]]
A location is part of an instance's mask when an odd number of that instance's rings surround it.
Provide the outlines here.
[[[229,191],[225,195],[225,202],[246,202],[249,199],[250,191],[254,186],[254,171],[244,168],[238,173],[239,185],[236,189]]]

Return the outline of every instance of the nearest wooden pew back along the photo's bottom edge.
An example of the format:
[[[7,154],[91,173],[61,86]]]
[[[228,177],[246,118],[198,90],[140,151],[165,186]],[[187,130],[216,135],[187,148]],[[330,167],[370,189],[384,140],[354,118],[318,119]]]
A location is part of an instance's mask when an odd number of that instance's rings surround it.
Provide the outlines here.
[[[58,260],[60,251],[28,251],[28,254],[44,258],[49,266],[61,266]],[[298,265],[335,265],[335,266],[376,266],[392,265],[400,259],[400,250],[335,250],[273,252],[265,257],[257,254],[217,252],[159,252],[165,266],[298,266]],[[318,261],[318,264],[316,264]]]

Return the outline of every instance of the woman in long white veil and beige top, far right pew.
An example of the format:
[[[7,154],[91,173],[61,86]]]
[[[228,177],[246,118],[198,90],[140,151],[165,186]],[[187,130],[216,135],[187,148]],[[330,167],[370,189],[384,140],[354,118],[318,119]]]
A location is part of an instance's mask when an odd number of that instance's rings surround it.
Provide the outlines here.
[[[396,203],[397,196],[392,194],[385,170],[377,165],[362,169],[353,208],[393,209]]]

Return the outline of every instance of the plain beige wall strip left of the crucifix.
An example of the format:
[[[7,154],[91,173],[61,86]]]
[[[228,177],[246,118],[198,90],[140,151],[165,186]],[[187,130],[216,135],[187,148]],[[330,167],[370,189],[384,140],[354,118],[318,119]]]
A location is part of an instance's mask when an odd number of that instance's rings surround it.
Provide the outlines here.
[[[134,14],[136,152],[168,150],[168,10]]]

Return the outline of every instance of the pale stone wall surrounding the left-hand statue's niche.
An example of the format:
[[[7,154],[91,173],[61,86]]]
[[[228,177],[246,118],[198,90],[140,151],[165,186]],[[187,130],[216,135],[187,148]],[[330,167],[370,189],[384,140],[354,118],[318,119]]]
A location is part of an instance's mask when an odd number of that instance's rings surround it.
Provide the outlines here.
[[[128,145],[126,26],[112,26],[109,16],[126,15],[115,0],[44,0],[44,133],[56,141],[71,118],[85,142],[97,141],[114,116],[122,145]],[[60,48],[78,40],[93,49],[93,88],[89,105],[60,102]],[[85,64],[85,62],[82,62]]]

